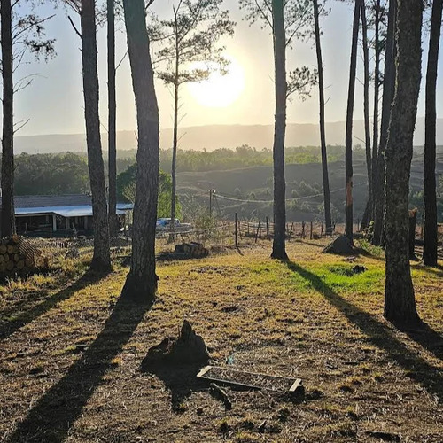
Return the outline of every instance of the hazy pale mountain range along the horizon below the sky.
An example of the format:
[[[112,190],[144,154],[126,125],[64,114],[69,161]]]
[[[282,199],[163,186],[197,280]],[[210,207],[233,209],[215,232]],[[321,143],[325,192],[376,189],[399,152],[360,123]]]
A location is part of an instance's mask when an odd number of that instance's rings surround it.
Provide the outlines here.
[[[271,148],[274,136],[273,125],[210,125],[180,128],[180,148],[201,151],[213,151],[218,148],[236,148],[248,144],[257,149]],[[326,124],[328,144],[345,143],[345,122],[337,121]],[[362,120],[354,121],[354,144],[364,144],[364,126]],[[102,143],[107,146],[107,135],[102,135]],[[424,118],[416,123],[414,143],[424,144]],[[443,144],[443,119],[437,121],[437,144]],[[136,148],[134,131],[119,131],[117,134],[118,150]],[[172,145],[172,129],[162,129],[160,145],[167,149]],[[286,130],[287,146],[318,146],[319,130],[315,124],[290,123]],[[51,134],[46,136],[16,136],[16,153],[47,153],[47,152],[84,152],[86,137],[83,134]]]

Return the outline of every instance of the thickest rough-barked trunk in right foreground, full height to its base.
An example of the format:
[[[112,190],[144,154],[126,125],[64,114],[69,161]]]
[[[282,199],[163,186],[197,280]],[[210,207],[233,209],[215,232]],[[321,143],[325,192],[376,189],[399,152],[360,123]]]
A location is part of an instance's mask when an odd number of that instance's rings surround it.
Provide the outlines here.
[[[399,0],[395,95],[385,151],[385,317],[411,326],[419,322],[409,266],[409,175],[421,77],[421,0]]]

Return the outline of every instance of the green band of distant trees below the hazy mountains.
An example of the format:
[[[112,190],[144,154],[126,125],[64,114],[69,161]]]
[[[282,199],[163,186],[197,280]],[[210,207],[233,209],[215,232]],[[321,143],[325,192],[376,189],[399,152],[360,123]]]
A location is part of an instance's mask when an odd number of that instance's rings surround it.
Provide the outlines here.
[[[344,147],[329,146],[330,161],[344,158]],[[170,173],[171,151],[162,151],[160,168]],[[419,152],[417,152],[419,153]],[[364,160],[364,151],[361,147],[354,149],[354,159]],[[213,152],[179,151],[179,172],[206,172],[212,170],[229,170],[241,167],[271,166],[272,152],[269,150],[257,151],[249,146],[241,146],[236,150],[218,149]],[[118,174],[127,171],[134,165],[136,151],[119,152],[117,159]],[[320,152],[317,147],[299,147],[286,149],[287,164],[320,163]],[[105,159],[105,175],[107,176],[107,161]],[[232,183],[237,186],[237,183]],[[297,189],[298,194],[291,197],[305,195],[303,189]],[[269,183],[269,195],[272,188]],[[307,194],[313,194],[321,189],[318,183],[306,183]],[[315,190],[310,189],[314,187]],[[234,189],[234,188],[233,188]],[[294,188],[295,189],[295,188]],[[76,194],[89,191],[89,174],[87,157],[84,154],[72,152],[58,154],[20,154],[15,157],[15,194],[16,195],[54,195]],[[307,195],[306,194],[306,195]],[[255,196],[253,196],[254,198]],[[263,198],[257,193],[257,198]],[[411,189],[410,201],[412,206],[423,205],[423,190]],[[439,217],[443,213],[443,176],[439,177],[438,186]]]

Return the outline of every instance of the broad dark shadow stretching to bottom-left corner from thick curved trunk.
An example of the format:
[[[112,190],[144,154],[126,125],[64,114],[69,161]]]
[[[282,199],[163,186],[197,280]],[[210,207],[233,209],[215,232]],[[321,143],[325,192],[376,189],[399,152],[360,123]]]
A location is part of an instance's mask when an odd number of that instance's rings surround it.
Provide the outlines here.
[[[152,302],[120,296],[113,313],[80,360],[44,393],[7,439],[10,443],[61,442],[100,384],[113,358],[128,343]]]

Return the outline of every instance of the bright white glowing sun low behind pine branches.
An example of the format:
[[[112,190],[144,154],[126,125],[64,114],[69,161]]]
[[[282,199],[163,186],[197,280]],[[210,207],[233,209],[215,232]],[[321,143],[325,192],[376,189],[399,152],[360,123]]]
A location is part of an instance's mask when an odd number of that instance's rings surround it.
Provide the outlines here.
[[[234,58],[229,57],[228,73],[210,74],[204,82],[188,83],[190,95],[198,104],[206,107],[224,108],[232,105],[245,89],[245,71]],[[205,67],[195,64],[193,67]]]

